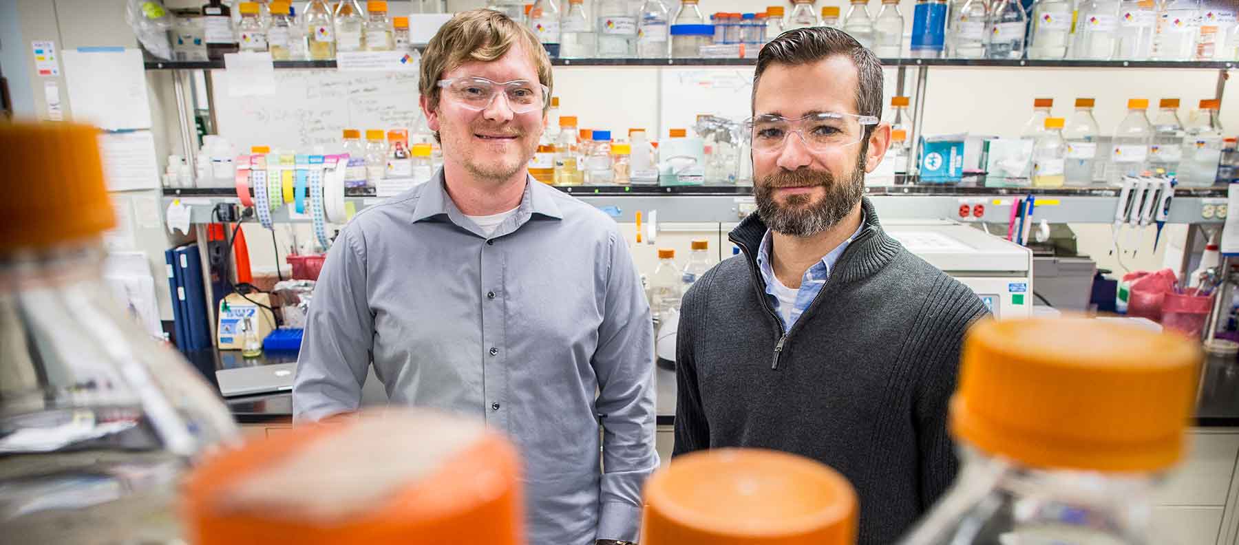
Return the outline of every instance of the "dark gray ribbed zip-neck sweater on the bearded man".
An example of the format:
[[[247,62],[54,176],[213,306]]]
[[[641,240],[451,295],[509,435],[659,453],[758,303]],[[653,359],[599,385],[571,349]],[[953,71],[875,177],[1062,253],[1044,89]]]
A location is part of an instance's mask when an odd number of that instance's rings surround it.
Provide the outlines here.
[[[684,296],[676,347],[675,455],[716,447],[794,452],[834,467],[860,498],[860,545],[893,543],[955,477],[947,403],[964,331],[981,300],[888,237],[865,228],[784,332],[750,216],[737,255]]]

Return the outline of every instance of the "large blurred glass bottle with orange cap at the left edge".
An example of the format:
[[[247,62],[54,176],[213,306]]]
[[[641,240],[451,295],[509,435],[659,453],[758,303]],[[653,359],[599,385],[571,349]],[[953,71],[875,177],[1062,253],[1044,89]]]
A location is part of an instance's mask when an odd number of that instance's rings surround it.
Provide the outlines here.
[[[22,181],[0,206],[2,540],[185,543],[182,477],[239,431],[219,391],[155,337],[157,311],[139,326],[104,281],[115,212],[98,129],[0,125],[0,165]]]

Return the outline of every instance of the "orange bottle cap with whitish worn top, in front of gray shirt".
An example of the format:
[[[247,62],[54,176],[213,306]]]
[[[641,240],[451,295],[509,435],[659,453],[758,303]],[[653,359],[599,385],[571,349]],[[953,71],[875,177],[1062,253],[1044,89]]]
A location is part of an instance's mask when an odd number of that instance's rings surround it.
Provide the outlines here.
[[[400,438],[424,426],[434,435]],[[207,457],[187,477],[182,518],[199,545],[515,545],[518,466],[507,440],[468,420],[363,412]]]

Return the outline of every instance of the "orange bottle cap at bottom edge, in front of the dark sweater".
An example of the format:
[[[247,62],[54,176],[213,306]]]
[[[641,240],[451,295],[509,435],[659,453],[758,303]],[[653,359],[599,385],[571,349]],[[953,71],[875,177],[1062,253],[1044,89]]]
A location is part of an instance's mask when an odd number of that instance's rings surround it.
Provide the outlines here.
[[[856,543],[856,492],[830,467],[786,452],[694,452],[646,483],[642,545]]]

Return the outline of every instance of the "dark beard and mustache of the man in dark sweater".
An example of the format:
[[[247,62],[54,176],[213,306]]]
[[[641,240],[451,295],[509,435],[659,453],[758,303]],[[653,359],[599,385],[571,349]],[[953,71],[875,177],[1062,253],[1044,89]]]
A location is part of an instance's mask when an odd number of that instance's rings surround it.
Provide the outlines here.
[[[774,190],[781,187],[821,187],[825,193],[814,202],[813,194],[790,194],[779,203]],[[847,217],[865,193],[865,154],[847,180],[839,182],[829,171],[800,168],[779,171],[761,178],[753,187],[757,217],[769,229],[790,237],[813,237]]]

